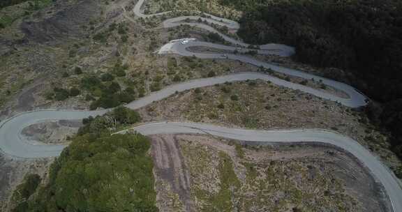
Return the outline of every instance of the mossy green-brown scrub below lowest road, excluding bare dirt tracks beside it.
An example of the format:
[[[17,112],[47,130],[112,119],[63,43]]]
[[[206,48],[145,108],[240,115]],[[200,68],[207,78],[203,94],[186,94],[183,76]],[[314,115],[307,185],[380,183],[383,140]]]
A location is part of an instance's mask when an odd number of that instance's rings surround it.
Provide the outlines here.
[[[308,153],[303,158],[273,160],[265,153],[280,153],[278,149],[244,148],[234,142],[233,150],[228,150],[230,146],[223,150],[222,144],[216,148],[198,143],[201,139],[179,142],[192,176],[195,211],[360,211],[359,200],[345,192],[343,181],[329,168],[333,162],[307,159]],[[295,157],[291,153],[295,150],[291,147],[287,155]]]

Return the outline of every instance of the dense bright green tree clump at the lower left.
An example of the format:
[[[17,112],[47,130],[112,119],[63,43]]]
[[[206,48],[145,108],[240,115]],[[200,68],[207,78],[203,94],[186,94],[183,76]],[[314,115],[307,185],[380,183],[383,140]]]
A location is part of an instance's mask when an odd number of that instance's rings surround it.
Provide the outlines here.
[[[149,139],[110,135],[112,128],[139,119],[124,107],[84,119],[80,134],[53,163],[49,183],[15,211],[158,211]],[[37,184],[20,185],[23,197]]]

